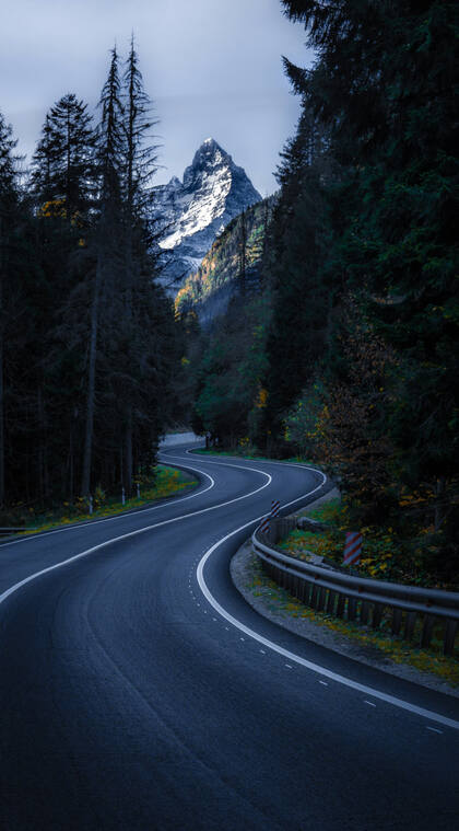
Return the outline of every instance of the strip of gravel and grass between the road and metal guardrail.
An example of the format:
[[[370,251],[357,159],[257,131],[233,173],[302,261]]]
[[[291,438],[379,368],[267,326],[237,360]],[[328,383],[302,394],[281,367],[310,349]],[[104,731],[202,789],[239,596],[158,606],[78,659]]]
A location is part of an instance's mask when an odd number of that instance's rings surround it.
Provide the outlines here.
[[[373,631],[350,621],[332,618],[326,612],[317,612],[301,603],[296,598],[278,586],[263,572],[256,555],[250,567],[251,582],[247,588],[254,597],[261,598],[267,607],[284,618],[303,619],[319,626],[325,626],[337,635],[350,638],[361,647],[372,647],[381,660],[389,658],[399,665],[409,665],[422,672],[428,672],[451,686],[459,686],[459,661],[457,657],[442,654],[439,633],[434,632],[432,646],[421,649],[408,644],[400,637],[392,636],[388,631],[389,621],[382,621],[380,630]]]

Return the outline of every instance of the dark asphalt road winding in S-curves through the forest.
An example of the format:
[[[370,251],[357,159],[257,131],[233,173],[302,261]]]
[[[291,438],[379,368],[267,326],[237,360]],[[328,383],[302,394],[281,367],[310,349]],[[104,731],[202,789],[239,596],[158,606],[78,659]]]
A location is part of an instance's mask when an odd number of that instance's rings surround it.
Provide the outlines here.
[[[229,579],[271,499],[323,476],[163,457],[199,488],[0,546],[2,831],[456,831],[458,700],[280,630]]]

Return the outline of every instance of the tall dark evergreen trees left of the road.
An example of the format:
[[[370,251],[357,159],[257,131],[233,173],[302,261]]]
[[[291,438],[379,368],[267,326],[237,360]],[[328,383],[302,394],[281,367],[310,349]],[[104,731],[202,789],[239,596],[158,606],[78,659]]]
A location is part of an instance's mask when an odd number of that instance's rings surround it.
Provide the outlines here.
[[[96,122],[96,123],[94,123]],[[155,119],[131,42],[97,118],[46,114],[27,175],[0,120],[0,504],[131,495],[176,406],[181,351],[157,282]]]

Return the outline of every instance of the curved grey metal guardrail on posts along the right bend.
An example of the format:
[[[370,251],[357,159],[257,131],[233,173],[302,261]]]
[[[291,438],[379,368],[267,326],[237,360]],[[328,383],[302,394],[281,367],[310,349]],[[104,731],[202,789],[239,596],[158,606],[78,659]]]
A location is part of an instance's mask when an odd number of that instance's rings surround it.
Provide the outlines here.
[[[296,527],[293,518],[271,520],[268,534],[254,532],[252,544],[269,576],[306,605],[337,618],[378,628],[385,609],[391,612],[393,635],[412,640],[422,618],[421,643],[427,647],[435,623],[445,626],[444,654],[452,655],[459,625],[459,592],[422,589],[360,577],[349,568],[314,565],[287,556],[275,542]]]

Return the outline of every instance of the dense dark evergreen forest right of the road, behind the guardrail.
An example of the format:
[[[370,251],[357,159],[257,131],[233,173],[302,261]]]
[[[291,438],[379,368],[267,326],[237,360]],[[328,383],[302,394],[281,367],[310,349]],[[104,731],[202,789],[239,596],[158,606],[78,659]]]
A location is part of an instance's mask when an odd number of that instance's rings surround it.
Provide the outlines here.
[[[302,114],[258,287],[205,335],[195,426],[328,470],[342,530],[457,585],[459,7],[283,5],[316,61],[284,59]]]

